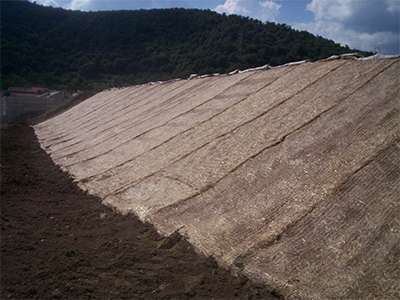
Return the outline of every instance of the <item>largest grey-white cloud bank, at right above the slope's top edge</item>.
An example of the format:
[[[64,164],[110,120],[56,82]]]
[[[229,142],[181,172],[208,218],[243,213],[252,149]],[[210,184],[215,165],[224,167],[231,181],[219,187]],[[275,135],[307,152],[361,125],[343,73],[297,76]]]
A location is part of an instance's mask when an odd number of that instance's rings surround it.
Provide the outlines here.
[[[313,0],[307,9],[314,13],[312,23],[293,27],[332,39],[350,48],[381,53],[399,53],[399,2]]]

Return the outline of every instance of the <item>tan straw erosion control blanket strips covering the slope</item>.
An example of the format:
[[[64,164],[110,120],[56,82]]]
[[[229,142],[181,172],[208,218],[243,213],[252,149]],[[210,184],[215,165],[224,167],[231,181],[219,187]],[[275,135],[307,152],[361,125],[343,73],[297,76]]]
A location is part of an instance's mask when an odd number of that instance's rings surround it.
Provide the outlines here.
[[[193,77],[35,132],[104,204],[287,299],[398,299],[400,59]]]

